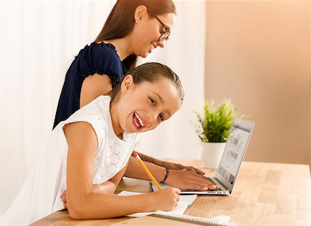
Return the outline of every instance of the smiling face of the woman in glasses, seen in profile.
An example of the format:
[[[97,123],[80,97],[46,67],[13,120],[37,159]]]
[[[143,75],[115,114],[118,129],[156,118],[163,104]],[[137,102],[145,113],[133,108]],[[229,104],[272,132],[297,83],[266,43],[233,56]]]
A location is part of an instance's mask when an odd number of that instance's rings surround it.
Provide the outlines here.
[[[141,17],[138,23],[135,23],[133,29],[133,41],[135,42],[133,44],[133,53],[135,55],[147,57],[154,48],[158,46],[164,47],[164,41],[159,41],[159,38],[165,30],[171,32],[175,24],[176,15],[168,13],[158,15],[157,18],[149,17],[147,14]]]

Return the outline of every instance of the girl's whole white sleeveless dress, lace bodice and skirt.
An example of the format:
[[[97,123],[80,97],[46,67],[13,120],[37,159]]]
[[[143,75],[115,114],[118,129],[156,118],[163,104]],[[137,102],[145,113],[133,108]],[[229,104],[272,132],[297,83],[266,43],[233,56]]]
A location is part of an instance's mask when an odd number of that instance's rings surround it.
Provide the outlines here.
[[[50,134],[39,158],[39,165],[28,176],[11,207],[0,218],[0,225],[28,225],[55,211],[64,209],[59,196],[66,189],[68,144],[63,126],[71,122],[88,122],[97,135],[93,184],[115,176],[129,160],[140,133],[115,135],[109,111],[111,98],[100,96],[59,122]]]

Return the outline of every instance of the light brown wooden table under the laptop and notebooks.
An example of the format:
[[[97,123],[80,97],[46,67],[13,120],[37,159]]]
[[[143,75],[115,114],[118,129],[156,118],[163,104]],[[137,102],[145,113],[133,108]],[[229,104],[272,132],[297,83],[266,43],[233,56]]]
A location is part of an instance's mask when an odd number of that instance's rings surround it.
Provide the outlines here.
[[[202,167],[200,161],[176,161]],[[207,176],[214,170],[200,168]],[[149,182],[124,178],[122,190],[149,192]],[[231,216],[238,225],[310,225],[310,169],[306,164],[243,162],[232,194],[198,196],[185,214],[213,218]],[[50,214],[32,225],[111,225],[128,217],[105,220],[73,220],[67,210]]]

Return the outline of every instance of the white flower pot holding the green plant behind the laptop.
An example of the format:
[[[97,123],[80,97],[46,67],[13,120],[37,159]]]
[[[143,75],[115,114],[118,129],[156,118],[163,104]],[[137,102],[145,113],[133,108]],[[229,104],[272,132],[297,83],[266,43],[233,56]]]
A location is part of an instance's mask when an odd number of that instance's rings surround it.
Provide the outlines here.
[[[204,166],[210,169],[217,169],[225,146],[225,142],[202,142],[202,160]]]

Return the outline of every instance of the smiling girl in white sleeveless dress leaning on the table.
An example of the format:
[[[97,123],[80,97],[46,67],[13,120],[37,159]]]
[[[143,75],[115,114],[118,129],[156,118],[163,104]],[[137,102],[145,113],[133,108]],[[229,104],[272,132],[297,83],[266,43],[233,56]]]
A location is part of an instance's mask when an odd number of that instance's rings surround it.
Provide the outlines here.
[[[0,225],[28,225],[64,209],[67,189],[72,218],[113,218],[178,203],[176,188],[138,196],[115,196],[140,133],[168,120],[183,100],[173,71],[158,63],[138,66],[111,92],[76,111],[53,129],[39,158]],[[133,205],[135,203],[135,205]]]

